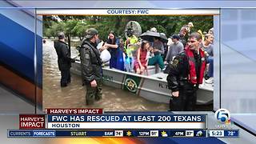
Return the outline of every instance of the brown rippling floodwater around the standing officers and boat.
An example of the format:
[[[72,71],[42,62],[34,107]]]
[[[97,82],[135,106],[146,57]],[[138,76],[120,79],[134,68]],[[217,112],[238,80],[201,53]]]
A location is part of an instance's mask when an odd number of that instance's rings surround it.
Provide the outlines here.
[[[72,58],[77,55],[75,49]],[[46,40],[43,44],[42,98],[45,108],[103,108],[106,111],[166,111],[168,104],[150,102],[130,92],[103,86],[102,100],[86,106],[86,88],[82,86],[80,76],[71,74],[69,86],[61,88],[61,74],[58,70],[57,54],[54,42]]]

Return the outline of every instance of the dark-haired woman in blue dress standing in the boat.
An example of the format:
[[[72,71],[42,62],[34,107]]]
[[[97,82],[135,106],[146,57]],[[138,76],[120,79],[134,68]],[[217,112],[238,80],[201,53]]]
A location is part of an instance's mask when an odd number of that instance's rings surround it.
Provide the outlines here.
[[[106,46],[111,54],[110,69],[115,68],[118,70],[124,70],[122,50],[120,50],[119,39],[116,38],[114,31],[110,31],[110,34],[104,46]]]

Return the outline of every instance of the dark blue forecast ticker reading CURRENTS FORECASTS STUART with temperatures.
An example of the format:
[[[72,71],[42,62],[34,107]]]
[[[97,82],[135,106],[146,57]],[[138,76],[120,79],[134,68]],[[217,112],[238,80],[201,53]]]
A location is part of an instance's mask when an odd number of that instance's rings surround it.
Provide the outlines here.
[[[206,130],[8,130],[8,138],[206,137]]]

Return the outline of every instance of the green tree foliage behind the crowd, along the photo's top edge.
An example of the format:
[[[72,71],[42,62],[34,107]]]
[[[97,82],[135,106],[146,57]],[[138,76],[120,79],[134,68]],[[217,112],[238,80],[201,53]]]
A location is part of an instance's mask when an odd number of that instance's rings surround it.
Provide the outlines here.
[[[191,31],[208,31],[213,27],[213,16],[54,16],[43,17],[43,34],[46,37],[54,37],[59,31],[64,31],[71,37],[82,39],[85,30],[93,27],[99,31],[99,35],[106,40],[110,30],[124,38],[126,23],[137,21],[142,27],[142,33],[156,27],[158,32],[165,33],[167,37],[178,34],[183,25],[193,22]]]

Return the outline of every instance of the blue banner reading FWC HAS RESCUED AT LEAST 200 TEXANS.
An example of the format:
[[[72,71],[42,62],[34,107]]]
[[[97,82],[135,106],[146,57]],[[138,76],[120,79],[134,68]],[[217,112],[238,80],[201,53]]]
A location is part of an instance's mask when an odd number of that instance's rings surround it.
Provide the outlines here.
[[[48,115],[48,122],[206,122],[206,114]]]

